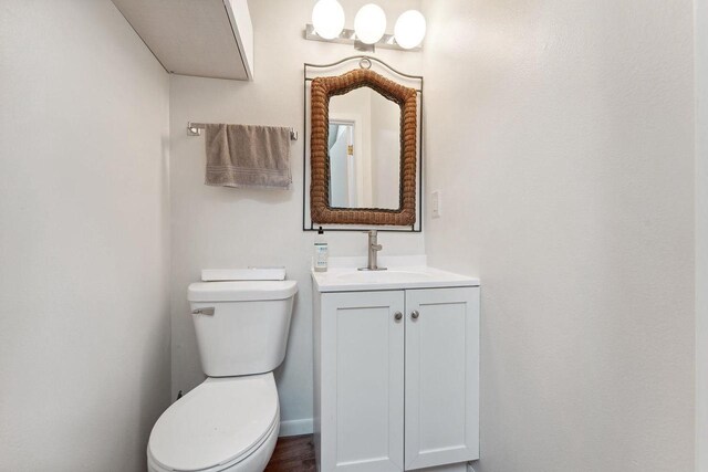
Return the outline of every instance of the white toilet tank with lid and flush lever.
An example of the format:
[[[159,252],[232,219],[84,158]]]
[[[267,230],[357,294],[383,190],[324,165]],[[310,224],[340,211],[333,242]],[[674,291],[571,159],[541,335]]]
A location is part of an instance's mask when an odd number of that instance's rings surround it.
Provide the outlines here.
[[[188,300],[209,377],[274,370],[285,357],[295,281],[198,282]]]

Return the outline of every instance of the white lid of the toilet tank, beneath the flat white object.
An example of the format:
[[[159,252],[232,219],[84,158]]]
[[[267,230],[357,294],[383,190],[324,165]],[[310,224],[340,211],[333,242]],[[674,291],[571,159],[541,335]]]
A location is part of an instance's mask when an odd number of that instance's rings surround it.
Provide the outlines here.
[[[285,300],[298,293],[295,281],[195,282],[189,285],[190,302],[254,302]]]

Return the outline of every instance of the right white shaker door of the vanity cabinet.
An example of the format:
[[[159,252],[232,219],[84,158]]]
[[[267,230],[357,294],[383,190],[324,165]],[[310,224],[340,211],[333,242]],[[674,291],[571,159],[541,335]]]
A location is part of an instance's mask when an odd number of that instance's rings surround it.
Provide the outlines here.
[[[406,291],[406,470],[479,459],[479,287]]]

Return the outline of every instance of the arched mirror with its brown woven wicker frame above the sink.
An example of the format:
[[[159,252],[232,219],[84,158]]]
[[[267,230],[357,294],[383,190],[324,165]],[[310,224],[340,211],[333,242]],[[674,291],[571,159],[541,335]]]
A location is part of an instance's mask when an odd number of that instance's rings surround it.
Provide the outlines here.
[[[362,66],[310,93],[312,222],[414,227],[418,91]]]

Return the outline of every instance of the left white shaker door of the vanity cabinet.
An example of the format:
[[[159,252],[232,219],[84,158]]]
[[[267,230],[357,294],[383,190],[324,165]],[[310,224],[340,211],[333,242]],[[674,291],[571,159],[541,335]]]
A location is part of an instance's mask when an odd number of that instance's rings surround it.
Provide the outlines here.
[[[321,472],[399,472],[404,292],[322,295]]]

